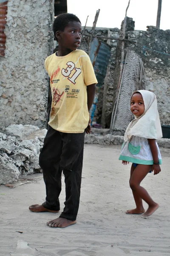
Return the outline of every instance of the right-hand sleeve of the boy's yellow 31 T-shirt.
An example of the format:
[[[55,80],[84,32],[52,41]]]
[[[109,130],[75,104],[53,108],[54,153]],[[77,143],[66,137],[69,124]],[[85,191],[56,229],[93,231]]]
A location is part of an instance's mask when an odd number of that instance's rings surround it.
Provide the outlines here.
[[[84,55],[81,57],[81,61],[85,85],[97,84],[98,82],[94,73],[94,68],[87,53],[84,52]]]

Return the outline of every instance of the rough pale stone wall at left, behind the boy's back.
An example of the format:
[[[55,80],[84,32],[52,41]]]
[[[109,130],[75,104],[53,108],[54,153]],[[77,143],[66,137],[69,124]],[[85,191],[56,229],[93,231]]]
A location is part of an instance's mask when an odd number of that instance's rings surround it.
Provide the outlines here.
[[[5,57],[0,58],[0,128],[44,127],[54,0],[8,0]]]

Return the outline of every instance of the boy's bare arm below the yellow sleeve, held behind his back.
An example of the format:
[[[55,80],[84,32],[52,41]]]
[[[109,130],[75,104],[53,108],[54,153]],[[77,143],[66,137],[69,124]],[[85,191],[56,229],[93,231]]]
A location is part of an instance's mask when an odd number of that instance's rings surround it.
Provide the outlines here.
[[[95,92],[96,92],[96,84],[90,84],[90,85],[87,86],[88,112],[90,111],[91,106],[93,104]],[[91,133],[91,116],[90,116],[90,113],[89,113],[88,127],[85,129],[85,132],[86,132],[86,134]]]

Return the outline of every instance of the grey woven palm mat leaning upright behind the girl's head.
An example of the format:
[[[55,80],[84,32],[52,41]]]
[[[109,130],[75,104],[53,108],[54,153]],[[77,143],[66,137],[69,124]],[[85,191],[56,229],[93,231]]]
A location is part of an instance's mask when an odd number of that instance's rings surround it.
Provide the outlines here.
[[[130,111],[130,96],[135,90],[144,89],[144,67],[141,57],[128,50],[123,70],[122,83],[114,107],[111,131],[113,134],[124,135],[127,125],[133,120]]]

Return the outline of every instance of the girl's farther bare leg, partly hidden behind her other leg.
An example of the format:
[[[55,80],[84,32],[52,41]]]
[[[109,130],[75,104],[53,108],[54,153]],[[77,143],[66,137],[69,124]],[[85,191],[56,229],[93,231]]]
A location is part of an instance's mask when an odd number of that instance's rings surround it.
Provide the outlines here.
[[[135,170],[135,166],[131,166],[131,169],[130,169],[130,179],[132,177],[132,174]],[[130,183],[130,180],[129,180],[129,183]],[[135,204],[136,204],[136,208],[135,209],[131,209],[131,210],[127,210],[126,214],[142,214],[145,212],[144,210],[144,207],[143,207],[143,204],[142,204],[142,198],[135,192],[133,191],[133,198],[135,200]]]

